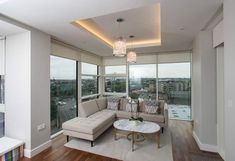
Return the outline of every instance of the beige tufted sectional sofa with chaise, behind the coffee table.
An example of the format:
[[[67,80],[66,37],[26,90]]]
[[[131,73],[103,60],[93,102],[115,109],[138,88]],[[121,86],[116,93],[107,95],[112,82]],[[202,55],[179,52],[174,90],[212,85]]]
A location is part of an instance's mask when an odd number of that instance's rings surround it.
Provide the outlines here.
[[[68,120],[62,124],[63,134],[93,141],[100,136],[106,129],[112,126],[116,119],[129,119],[130,112],[125,111],[126,104],[123,99],[120,100],[119,110],[107,109],[107,98],[99,98],[87,102],[80,103],[78,106],[78,117]],[[162,130],[168,126],[168,109],[164,101],[160,101],[160,114],[146,114],[143,112],[143,103],[139,103],[139,116],[145,121],[158,123]],[[162,131],[163,132],[163,131]]]

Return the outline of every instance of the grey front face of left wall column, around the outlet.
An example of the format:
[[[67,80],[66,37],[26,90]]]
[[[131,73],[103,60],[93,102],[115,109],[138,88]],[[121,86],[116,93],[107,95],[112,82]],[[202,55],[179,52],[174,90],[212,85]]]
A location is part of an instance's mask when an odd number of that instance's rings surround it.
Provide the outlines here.
[[[50,140],[50,36],[31,31],[31,147]],[[46,128],[37,130],[45,123]]]

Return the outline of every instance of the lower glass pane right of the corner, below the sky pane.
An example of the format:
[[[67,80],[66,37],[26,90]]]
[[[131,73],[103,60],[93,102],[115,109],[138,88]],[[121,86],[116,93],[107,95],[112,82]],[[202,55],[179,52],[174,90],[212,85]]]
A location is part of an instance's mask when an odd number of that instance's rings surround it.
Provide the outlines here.
[[[126,92],[126,78],[125,77],[106,77],[105,78],[105,92]]]

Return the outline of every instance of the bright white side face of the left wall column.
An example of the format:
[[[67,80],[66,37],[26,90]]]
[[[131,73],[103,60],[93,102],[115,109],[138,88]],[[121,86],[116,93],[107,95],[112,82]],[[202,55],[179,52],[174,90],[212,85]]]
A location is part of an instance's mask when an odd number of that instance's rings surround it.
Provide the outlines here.
[[[31,149],[30,32],[6,39],[5,135]]]

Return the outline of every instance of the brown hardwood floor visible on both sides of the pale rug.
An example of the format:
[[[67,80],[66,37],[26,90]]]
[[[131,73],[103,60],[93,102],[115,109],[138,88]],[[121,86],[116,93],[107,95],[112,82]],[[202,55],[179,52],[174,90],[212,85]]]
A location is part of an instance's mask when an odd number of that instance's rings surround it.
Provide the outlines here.
[[[219,157],[219,155],[215,153],[200,151],[192,136],[191,122],[170,120],[169,129],[172,132],[172,152],[174,161],[191,161],[189,155],[191,152]],[[23,158],[21,161],[119,161],[117,159],[64,147],[65,142],[66,137],[60,135],[53,139],[51,148],[31,159]]]

